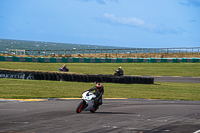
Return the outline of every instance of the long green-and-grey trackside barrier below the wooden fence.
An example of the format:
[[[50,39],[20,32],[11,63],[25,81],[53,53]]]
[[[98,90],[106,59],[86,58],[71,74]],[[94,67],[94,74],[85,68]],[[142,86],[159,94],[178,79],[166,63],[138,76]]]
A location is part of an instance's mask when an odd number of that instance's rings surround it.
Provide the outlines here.
[[[0,56],[0,61],[45,63],[197,63],[200,58],[43,58]]]

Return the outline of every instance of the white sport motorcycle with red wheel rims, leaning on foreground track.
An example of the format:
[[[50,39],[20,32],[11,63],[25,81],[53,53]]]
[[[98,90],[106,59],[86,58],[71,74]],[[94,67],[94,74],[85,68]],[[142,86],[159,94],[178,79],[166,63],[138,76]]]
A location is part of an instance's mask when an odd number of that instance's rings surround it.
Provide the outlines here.
[[[90,111],[94,113],[98,109],[98,105],[94,106],[95,104],[96,95],[90,93],[90,91],[85,91],[82,94],[82,101],[76,108],[76,113],[81,113],[81,111]]]

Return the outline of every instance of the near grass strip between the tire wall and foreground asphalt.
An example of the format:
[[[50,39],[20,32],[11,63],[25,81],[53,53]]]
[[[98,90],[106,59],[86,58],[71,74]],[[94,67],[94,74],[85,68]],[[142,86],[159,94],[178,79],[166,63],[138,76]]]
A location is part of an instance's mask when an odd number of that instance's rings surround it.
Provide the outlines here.
[[[199,83],[103,83],[104,98],[200,100]],[[77,98],[95,84],[45,80],[0,79],[0,98]]]

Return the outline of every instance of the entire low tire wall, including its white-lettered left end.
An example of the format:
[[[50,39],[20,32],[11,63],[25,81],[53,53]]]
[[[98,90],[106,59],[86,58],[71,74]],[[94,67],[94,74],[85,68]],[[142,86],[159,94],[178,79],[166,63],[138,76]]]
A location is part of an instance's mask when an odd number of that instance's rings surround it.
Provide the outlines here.
[[[14,70],[0,70],[0,78],[75,81],[75,82],[105,82],[105,83],[121,83],[121,84],[153,84],[154,83],[154,78],[152,77],[114,76],[114,75],[104,75],[104,74],[78,75],[78,74],[70,74],[70,73],[14,71]]]

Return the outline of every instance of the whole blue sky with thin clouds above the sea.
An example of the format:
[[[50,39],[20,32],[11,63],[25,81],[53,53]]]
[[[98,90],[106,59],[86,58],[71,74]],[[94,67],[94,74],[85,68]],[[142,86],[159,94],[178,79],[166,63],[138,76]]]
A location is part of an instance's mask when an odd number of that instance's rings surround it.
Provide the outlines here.
[[[0,39],[200,46],[200,0],[0,0]]]

